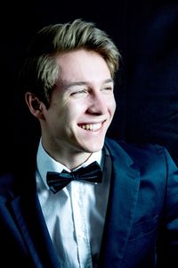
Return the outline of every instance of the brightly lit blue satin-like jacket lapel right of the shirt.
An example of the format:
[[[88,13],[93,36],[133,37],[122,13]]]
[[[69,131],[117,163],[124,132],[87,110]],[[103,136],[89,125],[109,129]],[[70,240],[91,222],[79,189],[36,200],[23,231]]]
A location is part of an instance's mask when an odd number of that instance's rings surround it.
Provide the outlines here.
[[[109,204],[101,246],[101,266],[116,267],[125,247],[134,219],[140,185],[140,172],[133,160],[117,143],[106,142],[112,160]]]

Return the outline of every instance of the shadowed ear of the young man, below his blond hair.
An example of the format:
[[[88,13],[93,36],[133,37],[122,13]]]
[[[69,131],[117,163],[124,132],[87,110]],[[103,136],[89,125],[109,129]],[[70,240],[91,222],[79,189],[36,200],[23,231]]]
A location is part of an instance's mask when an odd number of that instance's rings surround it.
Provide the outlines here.
[[[28,105],[29,111],[37,118],[37,119],[44,119],[44,104],[38,99],[38,97],[31,93],[26,92],[25,94],[25,101]]]

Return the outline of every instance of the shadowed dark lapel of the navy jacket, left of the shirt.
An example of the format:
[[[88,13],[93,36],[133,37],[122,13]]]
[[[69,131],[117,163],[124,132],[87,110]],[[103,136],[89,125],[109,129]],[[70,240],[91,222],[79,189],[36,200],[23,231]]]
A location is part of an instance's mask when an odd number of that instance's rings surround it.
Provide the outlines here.
[[[36,143],[37,145],[38,143]],[[25,148],[20,161],[15,164],[18,186],[11,193],[11,209],[29,255],[36,268],[60,268],[53,242],[36,194],[37,147]],[[23,157],[27,155],[27,157]],[[20,165],[19,165],[20,163]]]

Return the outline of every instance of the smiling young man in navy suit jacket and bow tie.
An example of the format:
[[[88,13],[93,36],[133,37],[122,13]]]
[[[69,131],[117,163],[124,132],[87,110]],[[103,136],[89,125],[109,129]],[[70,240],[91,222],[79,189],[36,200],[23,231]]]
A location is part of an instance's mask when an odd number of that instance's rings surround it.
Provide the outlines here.
[[[4,267],[177,267],[174,162],[164,147],[105,138],[119,57],[81,20],[29,46],[20,86],[41,138],[23,172],[0,178]]]

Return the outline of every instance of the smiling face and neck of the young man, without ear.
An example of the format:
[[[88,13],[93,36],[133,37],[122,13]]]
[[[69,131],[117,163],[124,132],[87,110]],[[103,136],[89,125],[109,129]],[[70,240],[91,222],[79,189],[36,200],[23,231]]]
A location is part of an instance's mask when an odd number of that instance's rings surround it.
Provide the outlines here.
[[[43,145],[66,165],[69,157],[82,163],[103,147],[116,109],[113,80],[104,59],[93,51],[60,54],[57,62],[60,79],[40,120]]]

